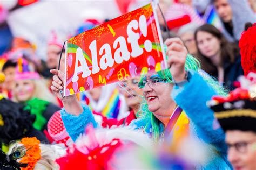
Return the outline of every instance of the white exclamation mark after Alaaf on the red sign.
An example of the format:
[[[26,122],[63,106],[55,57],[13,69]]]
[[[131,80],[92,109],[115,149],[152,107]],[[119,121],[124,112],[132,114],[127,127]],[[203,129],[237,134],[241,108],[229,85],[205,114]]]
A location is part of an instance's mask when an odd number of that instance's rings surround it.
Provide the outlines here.
[[[147,36],[147,20],[144,15],[139,17],[139,29],[142,32],[143,36]],[[150,40],[145,40],[144,48],[147,52],[151,52],[152,50],[152,42]]]

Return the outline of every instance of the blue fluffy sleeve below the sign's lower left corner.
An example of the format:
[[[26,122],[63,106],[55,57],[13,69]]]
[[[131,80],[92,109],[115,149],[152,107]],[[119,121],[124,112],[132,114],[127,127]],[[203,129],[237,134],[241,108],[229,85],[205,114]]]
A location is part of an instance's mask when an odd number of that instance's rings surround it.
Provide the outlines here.
[[[66,131],[69,133],[69,136],[73,141],[76,141],[78,136],[81,133],[84,133],[86,126],[90,123],[94,128],[97,127],[97,123],[92,115],[91,109],[87,105],[83,105],[82,107],[84,111],[79,116],[68,114],[65,109],[60,111]]]

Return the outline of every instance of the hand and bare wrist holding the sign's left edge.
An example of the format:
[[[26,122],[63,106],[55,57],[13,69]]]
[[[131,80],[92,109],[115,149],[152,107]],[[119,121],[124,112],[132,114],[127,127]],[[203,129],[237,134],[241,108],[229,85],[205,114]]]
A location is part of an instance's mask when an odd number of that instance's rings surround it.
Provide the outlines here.
[[[82,113],[83,108],[80,105],[76,95],[70,95],[64,98],[62,97],[62,94],[60,94],[60,90],[64,89],[64,73],[57,69],[51,69],[50,72],[53,74],[51,90],[62,101],[66,112],[71,115],[79,115]]]

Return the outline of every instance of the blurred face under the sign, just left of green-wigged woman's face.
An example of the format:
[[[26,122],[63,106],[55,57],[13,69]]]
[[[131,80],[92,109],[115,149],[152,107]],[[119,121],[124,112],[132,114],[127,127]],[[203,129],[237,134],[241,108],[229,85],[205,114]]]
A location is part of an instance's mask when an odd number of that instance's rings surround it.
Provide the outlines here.
[[[130,80],[120,82],[121,86],[127,90],[122,90],[126,104],[132,109],[138,109],[140,103],[142,102],[141,96],[143,96],[143,90],[138,88],[139,80],[140,77],[134,77]]]

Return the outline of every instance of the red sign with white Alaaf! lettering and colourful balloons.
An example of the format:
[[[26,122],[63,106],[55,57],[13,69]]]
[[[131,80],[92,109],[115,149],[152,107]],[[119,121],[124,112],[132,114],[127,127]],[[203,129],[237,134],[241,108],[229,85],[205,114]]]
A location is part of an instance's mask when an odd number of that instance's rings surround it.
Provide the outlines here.
[[[148,4],[68,40],[64,96],[166,67],[156,12]]]

